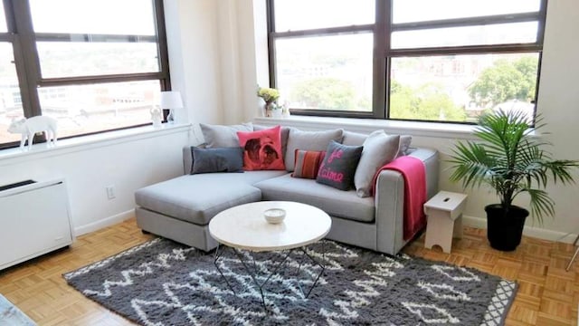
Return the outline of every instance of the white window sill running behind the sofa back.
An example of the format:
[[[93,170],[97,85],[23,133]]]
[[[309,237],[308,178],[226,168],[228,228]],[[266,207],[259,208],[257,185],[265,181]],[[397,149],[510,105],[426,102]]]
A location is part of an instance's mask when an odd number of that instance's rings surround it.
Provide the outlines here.
[[[343,128],[349,131],[370,133],[384,129],[387,133],[447,139],[474,139],[475,125],[440,122],[375,120],[356,118],[327,118],[310,116],[291,116],[289,118],[255,118],[256,124],[281,124],[299,129]]]

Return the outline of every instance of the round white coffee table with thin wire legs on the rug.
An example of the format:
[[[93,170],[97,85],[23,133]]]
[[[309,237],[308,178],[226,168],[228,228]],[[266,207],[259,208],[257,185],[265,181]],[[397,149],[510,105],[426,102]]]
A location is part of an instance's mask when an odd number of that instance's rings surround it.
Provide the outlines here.
[[[285,211],[286,216],[283,222],[271,224],[265,220],[263,212],[271,208],[281,208]],[[287,201],[263,201],[234,206],[217,214],[209,222],[209,234],[220,244],[215,250],[215,267],[221,273],[229,289],[235,293],[218,263],[223,252],[227,248],[231,248],[237,259],[242,263],[246,273],[252,277],[253,283],[260,290],[261,304],[267,310],[263,293],[264,286],[270,281],[273,274],[280,271],[280,267],[286,263],[289,255],[299,250],[304,257],[307,257],[311,263],[318,265],[320,269],[308,292],[304,292],[298,283],[299,289],[301,289],[304,297],[307,298],[326,267],[323,262],[308,254],[303,247],[321,240],[327,235],[331,226],[332,220],[326,212],[306,204]],[[241,250],[252,252],[284,251],[284,253],[280,254],[280,259],[269,273],[259,275],[257,269],[251,268],[249,267],[250,264],[245,263],[247,256],[243,255]],[[255,265],[255,261],[253,265]],[[298,273],[301,266],[302,264],[299,264]]]

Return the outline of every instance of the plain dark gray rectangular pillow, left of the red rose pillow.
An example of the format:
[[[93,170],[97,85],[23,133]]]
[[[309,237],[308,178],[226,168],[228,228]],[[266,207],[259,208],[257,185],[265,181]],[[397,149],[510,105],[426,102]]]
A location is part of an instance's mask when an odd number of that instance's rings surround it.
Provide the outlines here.
[[[212,172],[243,172],[243,149],[200,149],[191,147],[191,174]]]

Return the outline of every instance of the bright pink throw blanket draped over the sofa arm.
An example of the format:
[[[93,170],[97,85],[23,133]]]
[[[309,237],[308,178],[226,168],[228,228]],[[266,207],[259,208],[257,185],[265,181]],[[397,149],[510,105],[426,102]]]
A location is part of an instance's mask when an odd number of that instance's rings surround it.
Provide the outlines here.
[[[374,177],[374,187],[378,175],[384,169],[398,171],[404,178],[403,238],[404,240],[409,240],[426,225],[426,216],[422,210],[422,206],[426,202],[426,171],[424,163],[421,159],[411,156],[396,158],[378,169]],[[375,189],[373,188],[374,192]]]

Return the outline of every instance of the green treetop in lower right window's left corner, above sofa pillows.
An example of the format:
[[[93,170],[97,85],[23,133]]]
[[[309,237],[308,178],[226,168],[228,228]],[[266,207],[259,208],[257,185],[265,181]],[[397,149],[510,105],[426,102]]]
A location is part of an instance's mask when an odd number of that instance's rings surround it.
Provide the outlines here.
[[[390,85],[390,118],[464,121],[466,113],[454,104],[441,85],[425,83],[414,89],[393,81]]]

